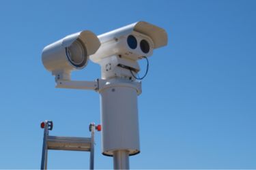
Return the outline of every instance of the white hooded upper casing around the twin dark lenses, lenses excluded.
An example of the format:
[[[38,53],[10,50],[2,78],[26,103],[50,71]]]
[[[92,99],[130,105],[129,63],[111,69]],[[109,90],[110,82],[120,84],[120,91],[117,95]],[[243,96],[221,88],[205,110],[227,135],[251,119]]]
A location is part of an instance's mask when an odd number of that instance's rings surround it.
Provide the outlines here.
[[[126,43],[128,35],[134,35],[139,43],[141,39],[148,41],[150,52],[141,52],[140,48],[131,49]],[[98,51],[89,58],[94,63],[100,63],[103,58],[121,55],[124,58],[137,61],[141,56],[151,56],[155,48],[167,45],[167,33],[164,29],[148,22],[135,22],[108,33],[98,35],[102,44]]]

